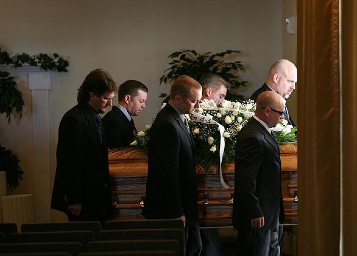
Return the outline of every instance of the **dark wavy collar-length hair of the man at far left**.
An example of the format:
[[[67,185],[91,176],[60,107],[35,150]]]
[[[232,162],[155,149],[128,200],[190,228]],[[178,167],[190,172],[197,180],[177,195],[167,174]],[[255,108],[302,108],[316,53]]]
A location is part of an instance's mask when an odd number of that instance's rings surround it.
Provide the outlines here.
[[[90,92],[94,92],[97,97],[103,96],[106,92],[115,92],[117,86],[111,75],[102,68],[97,68],[89,72],[78,88],[77,102],[84,103],[89,101]]]

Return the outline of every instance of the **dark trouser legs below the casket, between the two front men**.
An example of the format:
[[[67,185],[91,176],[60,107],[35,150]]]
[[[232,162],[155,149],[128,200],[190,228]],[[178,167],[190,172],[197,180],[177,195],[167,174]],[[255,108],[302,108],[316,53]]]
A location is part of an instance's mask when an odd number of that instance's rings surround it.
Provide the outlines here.
[[[218,229],[200,229],[202,251],[201,256],[221,256],[222,248]]]

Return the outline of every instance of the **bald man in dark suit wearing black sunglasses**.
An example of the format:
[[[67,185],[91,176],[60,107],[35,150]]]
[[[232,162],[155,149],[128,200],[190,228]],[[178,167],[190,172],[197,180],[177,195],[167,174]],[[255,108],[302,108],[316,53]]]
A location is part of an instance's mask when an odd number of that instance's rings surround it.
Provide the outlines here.
[[[279,145],[270,132],[284,112],[283,98],[272,91],[257,98],[255,115],[237,138],[233,226],[237,255],[279,256],[278,225],[285,220]]]

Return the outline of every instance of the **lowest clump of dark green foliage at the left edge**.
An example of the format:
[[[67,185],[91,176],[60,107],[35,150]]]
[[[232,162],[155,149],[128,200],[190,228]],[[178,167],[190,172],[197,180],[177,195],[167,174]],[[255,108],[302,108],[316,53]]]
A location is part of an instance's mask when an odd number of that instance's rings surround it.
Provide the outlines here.
[[[19,180],[22,180],[24,171],[19,166],[19,158],[0,144],[0,171],[6,172],[6,184],[8,189],[15,189],[19,186]]]

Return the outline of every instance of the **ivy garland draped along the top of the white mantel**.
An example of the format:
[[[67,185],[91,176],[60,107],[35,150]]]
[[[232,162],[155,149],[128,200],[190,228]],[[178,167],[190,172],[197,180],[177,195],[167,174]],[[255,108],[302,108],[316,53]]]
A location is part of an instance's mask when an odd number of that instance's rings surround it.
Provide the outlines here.
[[[27,63],[30,66],[40,66],[43,70],[57,70],[58,72],[67,72],[69,63],[63,57],[59,57],[57,53],[53,53],[53,58],[45,53],[39,53],[37,55],[28,55],[27,53],[21,53],[10,57],[6,51],[1,51],[0,48],[0,65],[14,65],[14,67],[22,67],[22,64]]]

